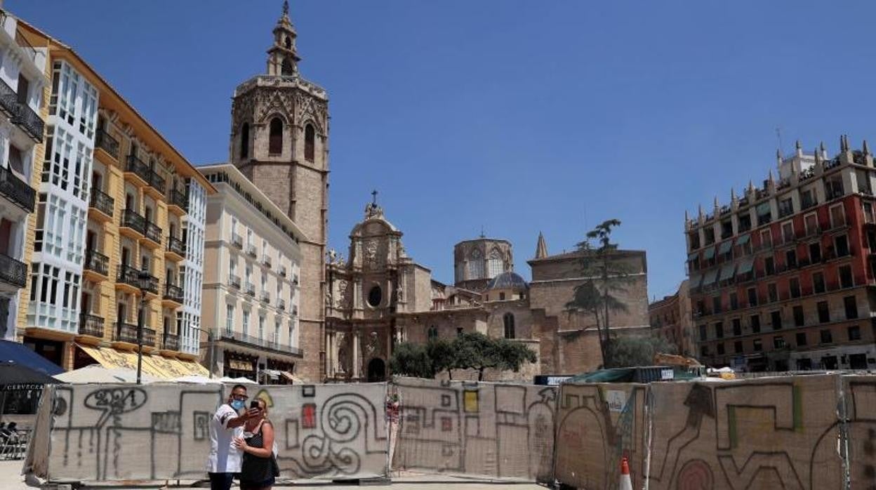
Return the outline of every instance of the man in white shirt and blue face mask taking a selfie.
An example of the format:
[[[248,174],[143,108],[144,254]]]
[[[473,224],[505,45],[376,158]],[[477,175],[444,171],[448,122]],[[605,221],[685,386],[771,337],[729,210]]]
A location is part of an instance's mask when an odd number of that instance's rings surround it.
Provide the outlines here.
[[[244,423],[258,415],[258,408],[245,410],[246,395],[244,385],[231,388],[228,401],[223,403],[210,421],[210,454],[207,459],[207,472],[210,476],[211,490],[229,490],[235,473],[240,472],[242,451],[232,444],[234,437],[242,437]]]

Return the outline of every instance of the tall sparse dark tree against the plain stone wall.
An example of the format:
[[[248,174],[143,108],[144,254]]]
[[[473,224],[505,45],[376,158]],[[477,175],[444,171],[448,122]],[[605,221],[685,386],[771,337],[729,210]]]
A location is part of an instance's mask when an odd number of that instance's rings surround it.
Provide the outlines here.
[[[627,310],[626,304],[618,299],[618,294],[625,292],[632,280],[632,267],[618,260],[618,244],[611,243],[611,231],[618,226],[619,220],[606,220],[588,231],[584,240],[577,245],[578,252],[581,252],[581,272],[590,279],[578,285],[572,299],[566,303],[569,313],[587,313],[595,318],[599,350],[605,366],[613,364],[611,312]]]

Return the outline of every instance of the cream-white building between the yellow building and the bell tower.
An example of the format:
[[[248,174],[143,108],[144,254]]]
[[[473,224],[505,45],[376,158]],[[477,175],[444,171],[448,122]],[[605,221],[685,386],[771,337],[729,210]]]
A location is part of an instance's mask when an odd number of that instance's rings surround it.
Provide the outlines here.
[[[291,383],[300,349],[299,227],[234,165],[198,167],[207,197],[204,325],[211,372]]]

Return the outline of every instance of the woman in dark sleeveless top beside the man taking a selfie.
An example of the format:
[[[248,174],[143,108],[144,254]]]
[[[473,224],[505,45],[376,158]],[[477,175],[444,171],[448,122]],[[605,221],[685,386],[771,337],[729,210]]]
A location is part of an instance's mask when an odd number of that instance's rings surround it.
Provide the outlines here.
[[[274,477],[278,476],[273,454],[273,425],[268,420],[265,401],[258,398],[258,415],[252,416],[244,424],[244,432],[249,437],[235,437],[234,445],[244,451],[244,462],[240,468],[241,490],[270,490]],[[256,407],[253,407],[256,408]]]

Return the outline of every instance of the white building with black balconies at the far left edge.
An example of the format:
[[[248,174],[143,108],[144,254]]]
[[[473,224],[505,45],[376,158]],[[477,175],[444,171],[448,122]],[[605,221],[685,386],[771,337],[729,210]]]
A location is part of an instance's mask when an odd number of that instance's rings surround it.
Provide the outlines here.
[[[33,220],[40,173],[48,86],[46,50],[18,32],[18,19],[0,11],[0,339],[16,338],[20,291],[27,283],[27,225]]]

